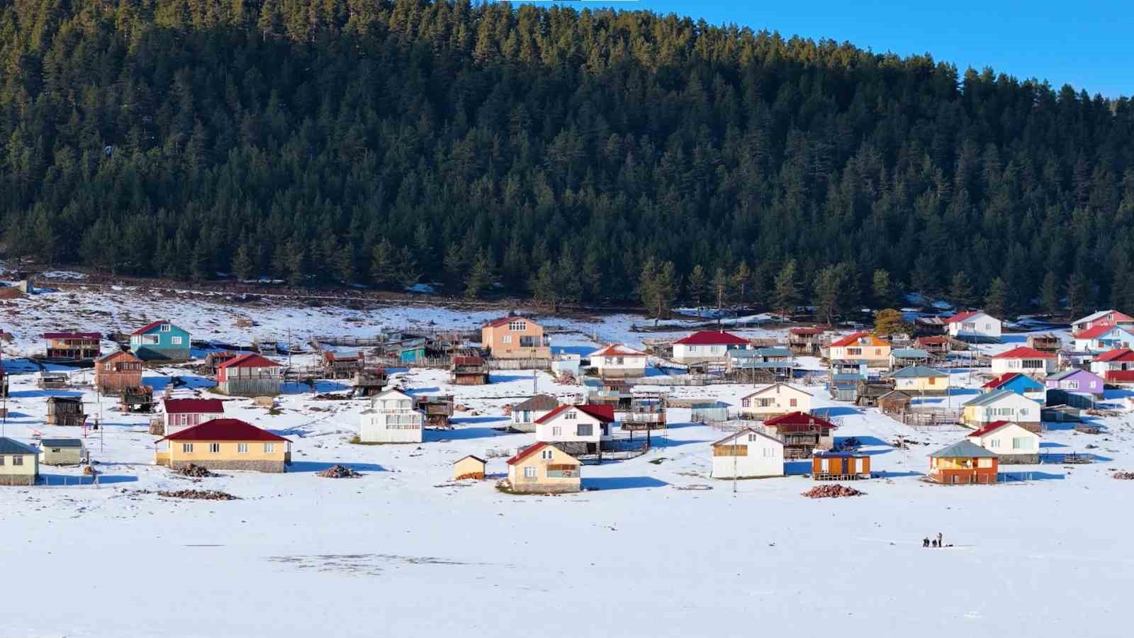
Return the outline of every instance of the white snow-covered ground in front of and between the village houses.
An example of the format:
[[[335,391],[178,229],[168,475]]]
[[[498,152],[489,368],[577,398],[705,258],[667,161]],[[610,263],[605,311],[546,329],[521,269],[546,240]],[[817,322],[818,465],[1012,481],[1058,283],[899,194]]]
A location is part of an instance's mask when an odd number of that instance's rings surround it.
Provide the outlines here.
[[[12,358],[42,347],[39,334],[64,327],[110,331],[168,317],[194,338],[248,341],[290,329],[298,339],[429,320],[468,327],[489,317],[138,301],[129,291],[51,293],[2,307],[2,327],[16,335],[5,345],[9,370],[20,368]],[[238,329],[236,317],[260,326]],[[578,330],[553,345],[593,345],[585,335],[637,345],[654,336],[632,334],[634,321],[642,319],[551,321]],[[210,385],[177,368],[150,371],[146,383],[162,389],[170,375],[188,381],[178,393]],[[223,472],[200,484],[152,464],[156,437],[146,434],[147,417],[104,404],[103,430],[86,439],[102,472],[99,486],[75,485],[77,468],[43,468],[49,486],[0,488],[0,565],[8,577],[0,636],[1126,633],[1134,481],[1110,478],[1114,469],[1134,469],[1125,411],[1100,419],[1101,436],[1044,433],[1044,452],[1092,452],[1097,463],[1012,467],[1031,480],[940,487],[920,480],[926,454],[960,439],[962,430],[917,431],[811,386],[841,420],[838,436],[860,438],[873,454],[882,477],[855,485],[865,496],[804,498],[799,493],[814,484],[802,476],[713,480],[709,444],[723,434],[671,410],[670,428],[654,436],[646,455],[584,467],[590,490],[521,497],[497,492],[493,481],[454,485],[450,463],[531,442],[492,429],[505,404],[531,394],[530,373],[458,388],[442,371],[398,377],[417,392],[455,392],[476,414],[458,415],[455,430],[426,431],[420,446],[359,446],[348,439],[364,401],[318,401],[296,386],[272,414],[234,400],[227,412],[294,442],[295,464],[286,475]],[[954,381],[978,385],[967,373]],[[544,375],[538,383],[541,392],[577,392]],[[335,389],[328,381],[316,392]],[[716,385],[675,395],[735,404],[750,392]],[[953,401],[975,392],[963,389]],[[90,389],[68,393],[82,393],[88,412],[99,410]],[[3,434],[76,436],[43,425],[48,394],[33,375],[14,375]],[[1110,397],[1116,406],[1119,395]],[[921,444],[891,447],[898,436]],[[363,477],[315,476],[333,463]],[[491,459],[489,471],[502,473],[505,460]],[[793,463],[789,471],[803,469]],[[137,492],[191,486],[240,500]],[[691,486],[712,489],[683,489]],[[921,539],[937,532],[954,547],[922,548]]]

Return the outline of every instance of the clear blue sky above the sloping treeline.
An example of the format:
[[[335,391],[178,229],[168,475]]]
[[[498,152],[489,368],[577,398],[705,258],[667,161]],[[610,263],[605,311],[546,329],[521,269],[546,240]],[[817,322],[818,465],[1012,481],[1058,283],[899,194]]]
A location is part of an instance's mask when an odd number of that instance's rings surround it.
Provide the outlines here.
[[[540,2],[545,3],[545,2]],[[881,53],[937,60],[1018,78],[1070,84],[1092,95],[1134,94],[1134,0],[589,0],[736,23],[785,36],[850,41]]]

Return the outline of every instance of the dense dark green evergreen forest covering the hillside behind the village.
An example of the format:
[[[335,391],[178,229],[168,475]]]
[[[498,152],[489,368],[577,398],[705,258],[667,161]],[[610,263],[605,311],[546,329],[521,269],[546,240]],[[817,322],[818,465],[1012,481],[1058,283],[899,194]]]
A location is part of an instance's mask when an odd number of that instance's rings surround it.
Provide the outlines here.
[[[644,11],[0,8],[8,257],[655,308],[1134,308],[1125,98]]]

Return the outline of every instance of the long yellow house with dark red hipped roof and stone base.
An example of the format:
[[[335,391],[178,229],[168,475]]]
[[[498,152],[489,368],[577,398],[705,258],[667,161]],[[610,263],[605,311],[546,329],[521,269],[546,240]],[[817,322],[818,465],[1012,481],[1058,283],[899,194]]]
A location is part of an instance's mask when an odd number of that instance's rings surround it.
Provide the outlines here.
[[[154,455],[159,465],[179,470],[194,464],[210,470],[286,472],[291,442],[238,419],[213,419],[167,435]]]

